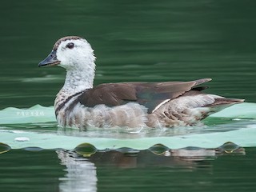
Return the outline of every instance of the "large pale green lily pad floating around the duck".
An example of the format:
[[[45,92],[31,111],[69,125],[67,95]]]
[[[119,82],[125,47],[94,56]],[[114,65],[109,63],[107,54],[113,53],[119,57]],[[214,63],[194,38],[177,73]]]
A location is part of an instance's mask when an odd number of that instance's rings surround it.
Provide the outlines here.
[[[79,130],[70,130],[70,132],[59,131],[56,127],[39,126],[38,130],[26,128],[26,124],[38,125],[42,122],[55,122],[53,106],[33,106],[29,109],[6,108],[0,111],[0,142],[3,145],[10,146],[12,149],[31,147],[42,149],[79,150],[81,145],[87,143],[87,147],[92,150],[105,149],[134,149],[134,150],[154,150],[162,153],[166,148],[181,149],[188,146],[202,148],[216,148],[226,142],[233,142],[238,146],[250,147],[256,146],[256,104],[242,103],[231,106],[219,113],[212,114],[209,118],[214,119],[214,123],[204,127],[178,127],[169,129],[169,134],[165,130],[147,130],[153,134],[136,132],[136,134],[122,133],[117,134],[115,130],[91,130],[79,132]],[[242,123],[227,121],[222,126],[216,126],[216,119],[244,119]],[[206,120],[207,121],[207,120]],[[10,126],[6,126],[10,125]],[[18,126],[15,127],[15,125]],[[20,128],[22,126],[22,129]],[[50,124],[46,124],[50,125]],[[227,129],[225,129],[227,128]],[[105,134],[104,134],[105,133]],[[107,134],[106,134],[107,133]],[[121,135],[121,136],[120,136]],[[22,139],[22,142],[17,138]],[[154,146],[152,148],[152,146]],[[150,148],[151,147],[151,148]],[[162,149],[164,147],[164,149]],[[166,148],[165,148],[166,147]],[[86,149],[87,149],[86,148]],[[81,148],[85,150],[85,148]],[[80,151],[80,150],[79,150]],[[91,152],[91,151],[90,151]]]

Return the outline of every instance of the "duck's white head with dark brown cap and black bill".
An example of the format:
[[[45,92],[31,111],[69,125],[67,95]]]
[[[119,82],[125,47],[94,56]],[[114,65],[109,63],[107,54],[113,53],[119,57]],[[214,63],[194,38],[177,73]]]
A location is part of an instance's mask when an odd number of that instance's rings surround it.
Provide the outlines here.
[[[66,70],[84,70],[94,68],[94,50],[90,43],[78,36],[58,39],[53,50],[38,66],[62,66]],[[90,63],[93,65],[90,66]]]

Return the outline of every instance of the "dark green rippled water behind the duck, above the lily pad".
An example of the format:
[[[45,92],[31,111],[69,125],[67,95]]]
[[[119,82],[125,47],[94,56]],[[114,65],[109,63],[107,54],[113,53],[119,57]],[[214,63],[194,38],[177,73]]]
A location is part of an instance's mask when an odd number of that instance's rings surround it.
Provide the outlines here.
[[[213,78],[210,93],[255,102],[256,2],[3,0],[0,108],[52,106],[65,71],[38,68],[54,42],[86,38],[95,84]]]

